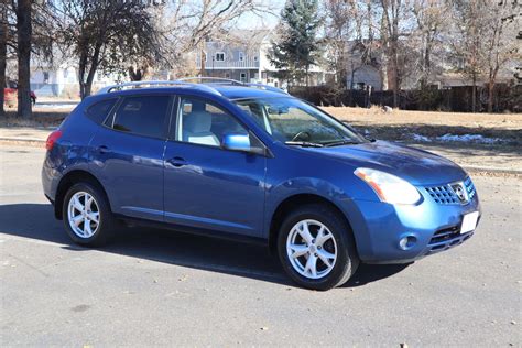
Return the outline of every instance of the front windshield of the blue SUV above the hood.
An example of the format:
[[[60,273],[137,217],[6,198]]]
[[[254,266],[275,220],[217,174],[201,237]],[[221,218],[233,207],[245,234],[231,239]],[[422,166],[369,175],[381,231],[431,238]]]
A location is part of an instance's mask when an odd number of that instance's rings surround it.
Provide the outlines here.
[[[320,109],[296,98],[252,98],[235,102],[274,139],[289,145],[335,146],[368,141]]]

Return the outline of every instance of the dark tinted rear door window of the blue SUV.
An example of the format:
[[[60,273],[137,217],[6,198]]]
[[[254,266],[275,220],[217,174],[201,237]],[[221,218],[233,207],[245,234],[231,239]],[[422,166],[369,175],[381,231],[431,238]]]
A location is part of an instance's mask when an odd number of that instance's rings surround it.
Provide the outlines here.
[[[139,135],[164,138],[167,96],[124,98],[115,115],[112,128]]]

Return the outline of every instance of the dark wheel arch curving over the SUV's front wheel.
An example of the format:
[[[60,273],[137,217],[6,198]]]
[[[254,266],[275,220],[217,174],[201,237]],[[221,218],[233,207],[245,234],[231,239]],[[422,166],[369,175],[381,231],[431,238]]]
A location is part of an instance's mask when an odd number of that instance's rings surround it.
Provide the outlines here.
[[[309,194],[309,193],[301,193],[301,194],[295,194],[290,197],[286,197],[283,199],[278,207],[275,208],[274,213],[272,214],[272,218],[270,220],[270,229],[269,229],[269,248],[270,252],[272,254],[276,254],[276,248],[278,248],[278,235],[279,235],[279,228],[281,226],[281,222],[283,221],[284,217],[295,209],[300,205],[306,205],[306,204],[322,204],[326,205],[333,210],[335,210],[339,216],[342,217],[342,219],[346,221],[346,224],[350,227],[351,230],[351,238],[354,239],[355,243],[355,249],[357,252],[357,243],[355,240],[354,236],[354,228],[346,216],[346,214],[340,209],[334,202],[319,196],[317,194]]]

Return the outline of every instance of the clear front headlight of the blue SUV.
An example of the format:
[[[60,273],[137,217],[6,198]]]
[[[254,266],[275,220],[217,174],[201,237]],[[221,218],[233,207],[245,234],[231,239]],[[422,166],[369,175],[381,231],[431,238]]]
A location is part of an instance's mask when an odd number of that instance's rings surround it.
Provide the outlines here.
[[[421,194],[412,184],[395,175],[370,168],[357,168],[354,174],[370,185],[382,202],[415,204],[421,199]]]

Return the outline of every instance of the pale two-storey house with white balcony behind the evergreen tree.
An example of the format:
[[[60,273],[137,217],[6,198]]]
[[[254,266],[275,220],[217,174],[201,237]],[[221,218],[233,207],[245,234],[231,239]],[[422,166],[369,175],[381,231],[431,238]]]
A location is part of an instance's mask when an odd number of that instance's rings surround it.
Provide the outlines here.
[[[195,52],[195,63],[203,76],[236,79],[286,88],[286,83],[275,75],[278,68],[268,58],[274,36],[269,30],[243,30],[224,40],[209,40]],[[328,72],[311,67],[311,84],[322,85]]]

